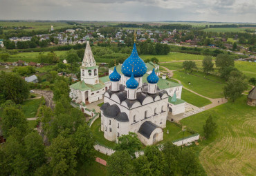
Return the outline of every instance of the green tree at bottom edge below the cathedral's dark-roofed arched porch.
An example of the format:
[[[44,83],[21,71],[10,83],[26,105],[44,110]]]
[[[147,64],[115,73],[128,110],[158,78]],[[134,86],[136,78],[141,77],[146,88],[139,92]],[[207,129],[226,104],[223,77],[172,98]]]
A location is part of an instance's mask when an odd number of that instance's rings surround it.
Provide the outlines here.
[[[163,175],[165,168],[165,158],[163,153],[158,149],[157,146],[147,146],[145,148],[144,155],[149,161],[150,168],[153,175]]]

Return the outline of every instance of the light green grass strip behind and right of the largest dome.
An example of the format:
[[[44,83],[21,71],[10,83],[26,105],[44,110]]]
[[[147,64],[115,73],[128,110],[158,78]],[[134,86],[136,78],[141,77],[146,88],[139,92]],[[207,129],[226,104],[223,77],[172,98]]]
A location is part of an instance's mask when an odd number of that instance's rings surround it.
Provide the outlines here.
[[[202,55],[192,55],[181,52],[170,52],[168,55],[140,55],[140,58],[151,59],[156,57],[160,62],[165,61],[183,61],[183,60],[203,60],[204,56]]]

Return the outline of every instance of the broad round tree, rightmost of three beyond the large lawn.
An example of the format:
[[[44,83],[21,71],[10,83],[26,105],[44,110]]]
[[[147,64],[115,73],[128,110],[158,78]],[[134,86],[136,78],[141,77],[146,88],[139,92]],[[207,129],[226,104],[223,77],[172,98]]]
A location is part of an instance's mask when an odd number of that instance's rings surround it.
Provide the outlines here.
[[[220,70],[229,66],[235,66],[234,59],[228,54],[219,54],[215,60],[216,67]]]

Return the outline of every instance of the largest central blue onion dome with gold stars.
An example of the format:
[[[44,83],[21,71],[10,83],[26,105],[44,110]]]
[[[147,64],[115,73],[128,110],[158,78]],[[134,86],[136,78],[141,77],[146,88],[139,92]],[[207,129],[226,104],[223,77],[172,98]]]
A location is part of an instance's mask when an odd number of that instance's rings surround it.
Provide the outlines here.
[[[142,77],[147,72],[146,64],[143,59],[138,57],[136,43],[134,43],[134,48],[132,49],[130,57],[122,63],[122,74],[126,77],[131,77],[132,68],[134,68],[134,77]]]

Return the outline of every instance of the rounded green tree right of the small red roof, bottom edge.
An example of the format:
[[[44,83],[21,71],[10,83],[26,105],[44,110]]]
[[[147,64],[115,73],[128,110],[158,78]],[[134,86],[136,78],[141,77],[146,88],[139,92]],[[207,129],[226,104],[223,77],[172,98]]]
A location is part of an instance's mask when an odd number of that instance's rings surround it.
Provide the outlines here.
[[[107,159],[107,175],[131,175],[132,170],[131,157],[126,150],[116,151]]]

